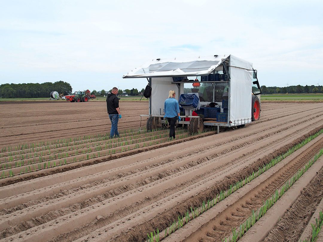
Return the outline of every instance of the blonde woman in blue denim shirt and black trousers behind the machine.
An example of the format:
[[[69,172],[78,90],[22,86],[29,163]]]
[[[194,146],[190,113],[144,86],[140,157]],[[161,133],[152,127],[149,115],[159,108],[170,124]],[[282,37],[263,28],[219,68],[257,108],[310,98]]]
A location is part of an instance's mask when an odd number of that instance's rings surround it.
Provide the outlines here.
[[[169,130],[169,137],[175,138],[175,124],[177,120],[181,120],[180,118],[180,107],[178,105],[178,101],[175,99],[175,92],[173,90],[169,91],[169,96],[165,100],[164,104],[164,118],[167,119],[170,130]]]

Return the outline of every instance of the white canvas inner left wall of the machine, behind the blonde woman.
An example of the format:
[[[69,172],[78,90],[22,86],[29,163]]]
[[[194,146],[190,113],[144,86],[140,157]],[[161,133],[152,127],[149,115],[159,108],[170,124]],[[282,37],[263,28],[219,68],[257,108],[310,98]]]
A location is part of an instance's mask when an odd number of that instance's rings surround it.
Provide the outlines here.
[[[164,103],[168,98],[169,91],[176,93],[176,99],[179,99],[178,87],[172,84],[172,77],[152,77],[151,78],[151,114],[164,115]],[[181,93],[184,93],[184,85],[181,85]],[[250,101],[251,102],[251,101]]]

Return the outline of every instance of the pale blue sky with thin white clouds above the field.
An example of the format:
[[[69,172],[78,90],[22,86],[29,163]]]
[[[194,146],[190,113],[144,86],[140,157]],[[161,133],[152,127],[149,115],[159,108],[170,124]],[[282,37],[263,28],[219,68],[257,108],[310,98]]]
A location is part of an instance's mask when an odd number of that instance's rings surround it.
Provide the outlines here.
[[[137,88],[122,79],[156,58],[232,54],[260,85],[323,85],[322,1],[0,0],[0,84],[65,81],[73,91]]]

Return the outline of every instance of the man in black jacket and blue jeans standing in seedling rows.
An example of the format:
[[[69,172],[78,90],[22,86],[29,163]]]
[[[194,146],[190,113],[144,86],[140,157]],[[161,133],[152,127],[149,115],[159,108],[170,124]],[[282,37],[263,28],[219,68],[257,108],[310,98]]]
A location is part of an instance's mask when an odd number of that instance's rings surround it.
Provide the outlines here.
[[[119,137],[118,133],[118,121],[121,118],[120,108],[119,108],[119,98],[117,97],[118,88],[113,87],[110,94],[107,96],[107,109],[109,118],[111,121],[111,131],[110,137],[112,138],[114,135]]]

